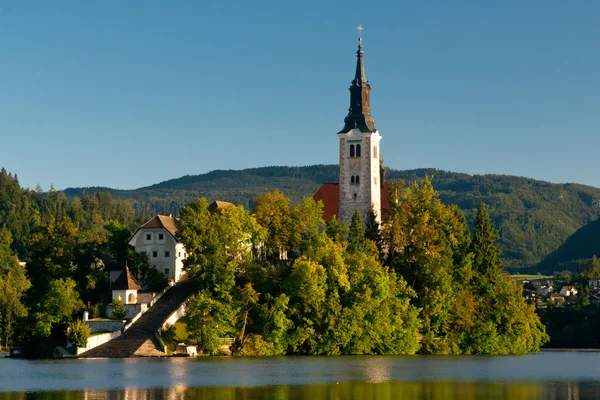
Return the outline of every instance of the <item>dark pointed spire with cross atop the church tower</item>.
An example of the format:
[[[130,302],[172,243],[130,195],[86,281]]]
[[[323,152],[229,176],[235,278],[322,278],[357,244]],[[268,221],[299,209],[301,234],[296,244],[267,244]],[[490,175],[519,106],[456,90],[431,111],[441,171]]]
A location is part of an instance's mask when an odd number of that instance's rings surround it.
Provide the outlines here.
[[[344,119],[344,128],[339,133],[348,133],[351,129],[358,128],[361,132],[375,132],[375,119],[371,116],[371,85],[365,75],[362,49],[362,26],[358,27],[358,51],[356,52],[356,73],[350,86],[350,108]]]

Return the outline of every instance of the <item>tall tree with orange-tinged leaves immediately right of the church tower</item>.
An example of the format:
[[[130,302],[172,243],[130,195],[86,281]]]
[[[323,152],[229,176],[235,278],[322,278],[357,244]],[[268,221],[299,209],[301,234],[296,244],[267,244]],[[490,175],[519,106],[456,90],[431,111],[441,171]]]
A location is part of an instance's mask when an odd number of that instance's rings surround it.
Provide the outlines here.
[[[455,258],[464,248],[464,219],[441,203],[425,178],[404,186],[388,183],[390,213],[382,231],[387,248],[385,263],[416,292],[412,300],[421,309],[422,352],[452,352],[456,342],[453,277],[462,263]]]

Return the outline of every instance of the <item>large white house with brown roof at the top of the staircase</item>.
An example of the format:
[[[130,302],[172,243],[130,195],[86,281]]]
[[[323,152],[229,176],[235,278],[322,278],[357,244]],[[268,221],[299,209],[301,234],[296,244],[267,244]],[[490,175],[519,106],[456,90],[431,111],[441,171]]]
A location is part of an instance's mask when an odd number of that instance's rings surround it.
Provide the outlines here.
[[[185,246],[176,238],[177,219],[171,215],[157,215],[142,225],[129,240],[138,253],[146,253],[152,265],[173,282],[183,274]]]

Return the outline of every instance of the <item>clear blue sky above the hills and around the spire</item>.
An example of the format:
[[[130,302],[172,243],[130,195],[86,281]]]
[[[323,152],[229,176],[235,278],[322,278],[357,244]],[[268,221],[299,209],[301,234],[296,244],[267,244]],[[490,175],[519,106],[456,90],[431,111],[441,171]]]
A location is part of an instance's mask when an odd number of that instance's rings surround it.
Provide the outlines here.
[[[0,0],[0,167],[137,188],[333,164],[364,26],[388,167],[600,186],[600,2]]]

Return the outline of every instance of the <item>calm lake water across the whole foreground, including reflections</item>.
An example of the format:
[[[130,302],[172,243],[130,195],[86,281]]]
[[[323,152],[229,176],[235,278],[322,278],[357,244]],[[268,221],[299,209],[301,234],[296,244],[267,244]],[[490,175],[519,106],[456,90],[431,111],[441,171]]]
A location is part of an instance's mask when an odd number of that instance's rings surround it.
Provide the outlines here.
[[[0,359],[4,399],[600,399],[600,353]]]

